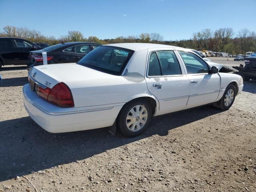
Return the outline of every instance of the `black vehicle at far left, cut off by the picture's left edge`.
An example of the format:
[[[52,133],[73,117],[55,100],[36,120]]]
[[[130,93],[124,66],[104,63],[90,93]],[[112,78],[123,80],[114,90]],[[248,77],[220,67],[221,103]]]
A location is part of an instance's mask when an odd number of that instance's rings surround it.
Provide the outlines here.
[[[39,46],[25,39],[0,37],[0,68],[3,65],[26,65],[29,52],[38,49]]]

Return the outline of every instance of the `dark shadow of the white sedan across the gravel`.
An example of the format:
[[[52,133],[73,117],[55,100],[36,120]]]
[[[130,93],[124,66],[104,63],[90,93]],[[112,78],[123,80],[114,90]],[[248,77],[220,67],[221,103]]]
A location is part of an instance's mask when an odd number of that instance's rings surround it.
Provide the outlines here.
[[[148,138],[165,136],[171,130],[222,112],[204,106],[183,112],[153,118],[144,134],[135,138],[114,136],[109,128],[51,134],[38,126],[30,117],[0,122],[0,181],[33,171],[76,162],[106,150]],[[209,126],[214,122],[209,122]]]

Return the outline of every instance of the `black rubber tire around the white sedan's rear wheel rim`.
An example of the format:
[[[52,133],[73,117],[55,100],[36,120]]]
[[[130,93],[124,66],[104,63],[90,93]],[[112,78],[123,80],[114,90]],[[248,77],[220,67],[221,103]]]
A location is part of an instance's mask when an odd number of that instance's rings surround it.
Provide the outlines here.
[[[139,106],[139,105],[144,106],[144,108],[146,108],[146,112],[148,114],[147,118],[145,119],[144,117],[140,116],[141,113],[136,111],[134,114],[134,118],[132,118],[133,122],[132,122],[132,120],[126,120],[126,118],[128,117],[128,114],[129,114],[129,116],[131,116],[130,110],[132,110],[132,108],[135,108],[135,106]],[[140,107],[139,110],[143,110],[143,107]],[[144,112],[145,112],[145,110],[144,110]],[[136,114],[137,114],[137,116],[136,116]],[[138,120],[138,122],[135,122],[135,120],[137,120],[136,117],[138,117],[138,119],[140,119],[140,120]],[[138,124],[142,125],[142,123],[140,123],[141,120],[146,120],[146,123],[142,126],[142,128],[139,129]],[[152,107],[151,107],[150,103],[143,99],[137,99],[137,100],[128,102],[127,104],[124,105],[124,107],[122,108],[122,110],[117,118],[116,126],[117,126],[118,130],[120,130],[120,132],[124,136],[135,137],[135,136],[142,134],[148,128],[151,120],[152,120]],[[131,128],[128,128],[128,126],[126,125],[127,123],[129,124],[130,121],[132,123],[131,126],[136,125],[139,130],[136,131],[135,130],[136,128],[134,128],[134,131],[131,131],[130,130]]]

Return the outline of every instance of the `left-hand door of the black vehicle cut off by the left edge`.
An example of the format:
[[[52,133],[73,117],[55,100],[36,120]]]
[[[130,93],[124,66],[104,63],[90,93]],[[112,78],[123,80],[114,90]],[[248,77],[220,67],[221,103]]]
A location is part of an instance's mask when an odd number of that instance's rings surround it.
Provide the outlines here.
[[[16,44],[12,38],[0,38],[0,57],[4,65],[18,64]]]

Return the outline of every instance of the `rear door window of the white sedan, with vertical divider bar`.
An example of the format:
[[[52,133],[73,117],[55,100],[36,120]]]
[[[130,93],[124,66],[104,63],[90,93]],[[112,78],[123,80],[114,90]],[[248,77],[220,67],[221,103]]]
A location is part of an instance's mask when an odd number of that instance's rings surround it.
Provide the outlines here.
[[[157,51],[150,56],[149,76],[182,74],[180,64],[173,51]]]

